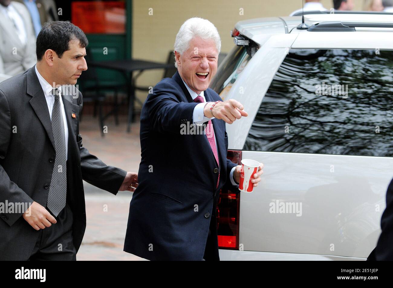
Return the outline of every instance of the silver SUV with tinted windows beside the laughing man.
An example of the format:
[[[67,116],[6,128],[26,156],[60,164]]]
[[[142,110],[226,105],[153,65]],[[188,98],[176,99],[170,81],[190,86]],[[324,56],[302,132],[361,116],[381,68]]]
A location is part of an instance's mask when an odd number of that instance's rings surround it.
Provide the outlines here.
[[[222,260],[365,260],[393,178],[393,15],[238,22],[211,83],[248,117],[228,158],[264,163],[252,193],[221,191]],[[307,27],[308,26],[308,27]]]

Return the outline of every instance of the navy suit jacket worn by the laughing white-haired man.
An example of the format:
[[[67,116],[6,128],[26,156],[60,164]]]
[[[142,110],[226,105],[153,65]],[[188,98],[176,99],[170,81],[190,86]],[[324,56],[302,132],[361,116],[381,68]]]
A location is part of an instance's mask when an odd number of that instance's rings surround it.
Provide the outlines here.
[[[210,88],[204,95],[206,101],[220,100]],[[212,120],[220,167],[206,135],[180,133],[182,124],[193,123],[197,104],[176,72],[153,88],[142,107],[142,159],[139,186],[130,202],[126,252],[150,260],[202,260],[204,256],[213,198],[219,198],[224,185],[233,188],[229,174],[236,164],[226,158],[223,120]]]

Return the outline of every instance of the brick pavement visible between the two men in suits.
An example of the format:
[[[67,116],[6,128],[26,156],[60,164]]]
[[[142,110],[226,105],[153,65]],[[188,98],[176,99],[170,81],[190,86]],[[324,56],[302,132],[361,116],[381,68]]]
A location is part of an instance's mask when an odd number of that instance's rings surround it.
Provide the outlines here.
[[[83,147],[104,163],[126,171],[138,172],[141,160],[139,123],[126,132],[126,117],[119,126],[111,117],[105,121],[108,133],[101,137],[98,119],[84,115],[80,122]],[[131,192],[116,196],[84,182],[86,232],[77,260],[145,260],[123,251]]]

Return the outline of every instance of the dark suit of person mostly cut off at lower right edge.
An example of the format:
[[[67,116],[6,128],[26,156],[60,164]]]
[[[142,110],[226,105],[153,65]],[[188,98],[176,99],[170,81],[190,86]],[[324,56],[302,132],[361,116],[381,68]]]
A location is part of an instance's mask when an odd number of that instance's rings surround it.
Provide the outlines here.
[[[381,218],[381,235],[375,249],[367,258],[371,260],[393,260],[393,179],[386,192],[386,209]]]

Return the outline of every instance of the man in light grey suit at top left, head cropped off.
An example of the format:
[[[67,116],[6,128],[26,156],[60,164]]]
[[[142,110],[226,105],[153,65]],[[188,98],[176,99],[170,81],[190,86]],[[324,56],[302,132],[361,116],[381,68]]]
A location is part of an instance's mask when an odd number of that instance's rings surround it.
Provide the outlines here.
[[[35,34],[28,9],[0,0],[0,74],[15,76],[34,66]]]

